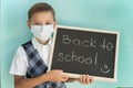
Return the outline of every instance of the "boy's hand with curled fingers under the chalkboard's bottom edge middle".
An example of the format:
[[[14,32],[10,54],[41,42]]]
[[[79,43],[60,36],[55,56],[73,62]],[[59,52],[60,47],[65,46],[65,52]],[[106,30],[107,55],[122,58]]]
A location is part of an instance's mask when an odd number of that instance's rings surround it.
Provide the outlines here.
[[[89,75],[81,75],[79,78],[79,82],[88,85],[91,84],[93,81],[92,77],[89,77]]]

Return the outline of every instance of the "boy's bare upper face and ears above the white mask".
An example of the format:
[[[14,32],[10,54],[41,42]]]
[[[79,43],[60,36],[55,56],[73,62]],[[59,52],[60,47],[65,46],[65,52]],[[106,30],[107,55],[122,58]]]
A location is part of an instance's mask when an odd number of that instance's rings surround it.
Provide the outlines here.
[[[52,24],[53,28],[55,29],[55,20],[53,19],[53,15],[50,11],[34,13],[31,16],[30,21],[28,21],[29,28],[31,25],[48,25],[48,24]]]

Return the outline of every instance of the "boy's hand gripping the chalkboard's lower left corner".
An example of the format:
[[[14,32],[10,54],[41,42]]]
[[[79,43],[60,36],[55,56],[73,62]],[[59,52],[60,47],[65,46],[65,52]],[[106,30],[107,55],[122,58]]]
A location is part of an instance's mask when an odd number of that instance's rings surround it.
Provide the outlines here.
[[[66,81],[70,76],[62,74],[63,70],[54,69],[44,74],[48,78],[48,81]]]

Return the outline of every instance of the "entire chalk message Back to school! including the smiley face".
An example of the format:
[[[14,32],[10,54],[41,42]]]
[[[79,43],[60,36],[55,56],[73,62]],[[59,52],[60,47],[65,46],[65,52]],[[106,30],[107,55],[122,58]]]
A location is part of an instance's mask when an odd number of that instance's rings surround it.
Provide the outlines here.
[[[106,42],[106,38],[103,38],[101,40],[101,44],[99,45],[98,44],[98,40],[94,38],[94,37],[90,37],[88,40],[80,40],[78,37],[75,38],[71,38],[69,35],[62,35],[62,44],[73,44],[75,46],[82,46],[82,47],[86,47],[88,48],[102,48],[102,50],[105,50],[105,51],[112,51],[113,50],[113,44],[111,42]],[[75,54],[75,51],[73,50],[71,52],[71,54],[64,54],[62,52],[60,52],[58,54],[58,58],[57,61],[59,62],[74,62],[74,63],[79,63],[79,64],[85,64],[85,65],[98,65],[98,59],[99,59],[99,52],[95,52],[95,55],[94,55],[94,58],[92,58],[91,56],[90,57],[86,57],[86,56],[83,56],[83,55],[80,55],[78,56]],[[108,65],[104,65],[103,67],[101,67],[101,73],[103,74],[108,74],[110,73],[111,69],[109,69]]]

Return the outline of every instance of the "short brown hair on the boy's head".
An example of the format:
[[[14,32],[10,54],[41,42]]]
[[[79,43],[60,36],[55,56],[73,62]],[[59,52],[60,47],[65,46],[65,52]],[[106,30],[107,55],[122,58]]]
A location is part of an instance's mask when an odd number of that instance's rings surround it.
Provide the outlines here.
[[[50,4],[48,4],[45,2],[39,2],[39,3],[35,3],[34,6],[32,6],[30,8],[30,10],[28,11],[29,21],[30,21],[31,16],[34,13],[43,12],[43,11],[45,11],[45,12],[50,11],[52,13],[52,15],[53,15],[53,20],[55,20],[55,11],[54,11],[54,9]]]

